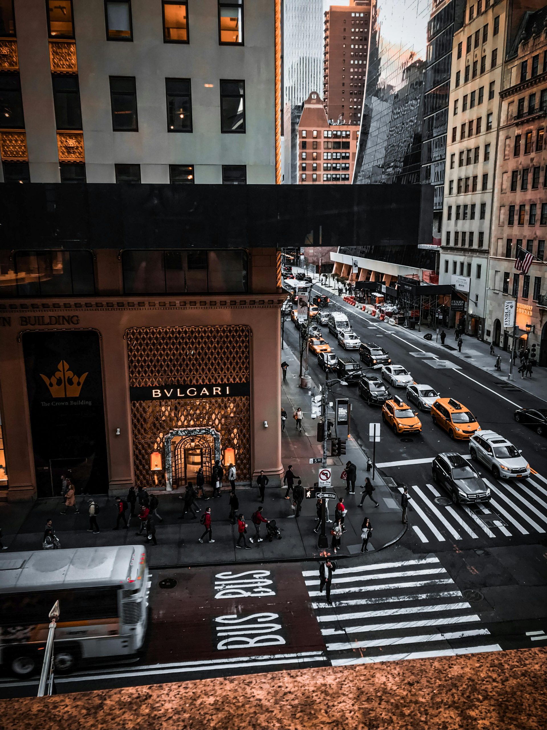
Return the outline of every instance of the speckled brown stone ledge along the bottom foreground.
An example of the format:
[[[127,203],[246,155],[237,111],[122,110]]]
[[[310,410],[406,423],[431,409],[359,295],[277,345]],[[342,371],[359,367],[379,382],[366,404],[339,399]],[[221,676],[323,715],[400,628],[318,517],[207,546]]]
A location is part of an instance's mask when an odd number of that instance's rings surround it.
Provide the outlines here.
[[[0,730],[545,730],[547,648],[0,702]]]

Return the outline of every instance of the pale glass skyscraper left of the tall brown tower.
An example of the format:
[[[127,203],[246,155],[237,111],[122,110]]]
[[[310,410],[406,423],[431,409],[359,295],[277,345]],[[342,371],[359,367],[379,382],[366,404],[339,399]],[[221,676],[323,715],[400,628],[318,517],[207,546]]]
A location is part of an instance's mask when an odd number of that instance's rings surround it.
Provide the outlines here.
[[[323,93],[323,0],[284,0],[284,104]]]

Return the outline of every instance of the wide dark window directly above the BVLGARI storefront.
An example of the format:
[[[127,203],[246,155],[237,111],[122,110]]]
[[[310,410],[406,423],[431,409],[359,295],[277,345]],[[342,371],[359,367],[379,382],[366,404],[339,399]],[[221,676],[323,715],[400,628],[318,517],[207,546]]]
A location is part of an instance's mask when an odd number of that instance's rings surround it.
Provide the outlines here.
[[[241,250],[125,250],[126,294],[246,292],[247,253]]]

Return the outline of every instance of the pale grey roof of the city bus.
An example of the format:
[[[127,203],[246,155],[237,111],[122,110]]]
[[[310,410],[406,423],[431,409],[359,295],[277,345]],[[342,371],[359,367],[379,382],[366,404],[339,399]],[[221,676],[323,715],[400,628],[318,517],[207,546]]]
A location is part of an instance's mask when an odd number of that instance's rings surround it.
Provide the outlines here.
[[[133,553],[142,545],[36,550],[0,555],[0,591],[121,585],[131,574]]]

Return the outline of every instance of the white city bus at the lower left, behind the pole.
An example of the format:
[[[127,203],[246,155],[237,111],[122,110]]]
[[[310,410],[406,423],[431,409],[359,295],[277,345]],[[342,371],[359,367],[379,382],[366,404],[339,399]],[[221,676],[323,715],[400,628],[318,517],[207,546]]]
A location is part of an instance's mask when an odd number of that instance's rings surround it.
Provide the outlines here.
[[[149,576],[142,545],[0,555],[0,666],[16,677],[42,669],[55,601],[56,672],[128,659],[143,645]]]

